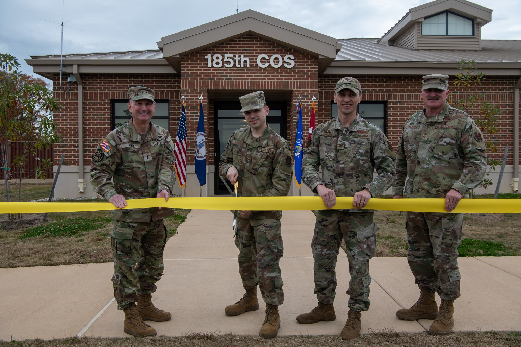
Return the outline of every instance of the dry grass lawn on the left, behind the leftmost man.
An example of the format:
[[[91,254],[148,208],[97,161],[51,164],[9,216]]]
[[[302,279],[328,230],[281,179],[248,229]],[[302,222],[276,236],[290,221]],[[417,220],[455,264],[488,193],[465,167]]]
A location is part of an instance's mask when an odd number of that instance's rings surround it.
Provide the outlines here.
[[[165,219],[168,237],[176,233],[189,212],[190,209],[177,209],[177,215]],[[0,221],[0,267],[105,263],[113,260],[108,236],[113,220],[108,211],[52,213],[48,215],[51,222],[44,222],[42,217],[40,214],[24,214],[22,219]],[[80,227],[76,232],[38,231],[36,233],[43,236],[23,238],[30,227],[41,226],[39,230],[46,230],[48,226],[70,224],[71,219],[72,222],[80,220],[91,225],[83,230]]]

